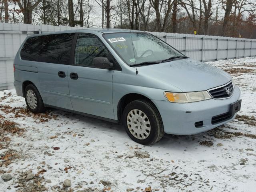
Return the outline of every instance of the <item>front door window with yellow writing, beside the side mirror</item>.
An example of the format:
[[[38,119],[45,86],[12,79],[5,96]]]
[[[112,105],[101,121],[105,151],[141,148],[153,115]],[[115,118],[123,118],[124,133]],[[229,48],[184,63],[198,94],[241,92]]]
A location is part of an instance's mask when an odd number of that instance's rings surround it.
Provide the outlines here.
[[[108,58],[108,50],[96,36],[79,34],[76,41],[75,65],[94,67],[92,60],[95,57]]]

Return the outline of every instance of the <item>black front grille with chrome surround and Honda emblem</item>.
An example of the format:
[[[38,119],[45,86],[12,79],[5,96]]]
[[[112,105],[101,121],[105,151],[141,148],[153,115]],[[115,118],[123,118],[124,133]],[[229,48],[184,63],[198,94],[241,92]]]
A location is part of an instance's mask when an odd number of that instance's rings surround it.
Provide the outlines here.
[[[228,92],[227,89],[230,92]],[[211,94],[211,96],[214,99],[228,98],[228,97],[232,96],[233,92],[234,92],[234,87],[233,87],[232,82],[209,90],[209,93]]]

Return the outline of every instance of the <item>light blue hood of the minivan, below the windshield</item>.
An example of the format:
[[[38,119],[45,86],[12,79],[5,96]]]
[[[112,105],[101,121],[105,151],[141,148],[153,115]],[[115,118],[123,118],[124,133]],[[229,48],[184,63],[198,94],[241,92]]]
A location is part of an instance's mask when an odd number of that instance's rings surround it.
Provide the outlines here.
[[[231,80],[223,70],[191,58],[141,66],[137,70],[148,78],[176,86],[182,92],[204,91]]]

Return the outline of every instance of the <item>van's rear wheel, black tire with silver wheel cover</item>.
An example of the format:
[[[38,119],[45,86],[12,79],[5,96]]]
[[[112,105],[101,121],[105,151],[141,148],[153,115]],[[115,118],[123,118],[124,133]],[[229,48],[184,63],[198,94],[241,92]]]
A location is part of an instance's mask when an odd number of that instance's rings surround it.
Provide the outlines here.
[[[27,107],[32,113],[42,113],[45,111],[42,97],[34,84],[26,86],[24,96]]]

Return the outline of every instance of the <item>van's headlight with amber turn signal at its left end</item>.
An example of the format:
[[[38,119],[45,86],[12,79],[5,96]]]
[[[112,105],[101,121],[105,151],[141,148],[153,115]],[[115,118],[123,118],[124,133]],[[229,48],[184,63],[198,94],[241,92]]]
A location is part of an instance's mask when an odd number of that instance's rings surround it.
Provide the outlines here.
[[[211,99],[212,97],[207,91],[172,93],[164,92],[166,99],[173,103],[190,103]]]

